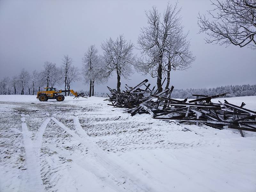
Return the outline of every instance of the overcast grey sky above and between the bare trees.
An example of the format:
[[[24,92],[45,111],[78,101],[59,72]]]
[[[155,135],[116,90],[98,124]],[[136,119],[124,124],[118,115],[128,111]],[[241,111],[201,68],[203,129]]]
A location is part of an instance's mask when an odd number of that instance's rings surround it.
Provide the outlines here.
[[[64,54],[71,56],[73,65],[81,68],[89,45],[95,44],[101,53],[101,42],[119,34],[124,34],[136,45],[140,28],[147,26],[145,10],[155,5],[163,13],[167,2],[0,0],[0,79],[18,74],[22,68],[29,72],[40,70],[44,61],[60,66]],[[188,38],[196,61],[187,71],[172,72],[171,84],[177,89],[255,84],[255,51],[232,45],[226,48],[205,44],[205,35],[197,34],[198,12],[211,9],[210,3],[210,0],[179,1],[183,25],[185,31],[190,31]],[[156,79],[136,73],[129,82],[122,80],[121,83],[135,85],[145,78],[156,84]],[[116,76],[107,84],[116,87]],[[107,84],[95,86],[95,91],[107,92]],[[80,82],[73,88],[88,89],[88,86]]]

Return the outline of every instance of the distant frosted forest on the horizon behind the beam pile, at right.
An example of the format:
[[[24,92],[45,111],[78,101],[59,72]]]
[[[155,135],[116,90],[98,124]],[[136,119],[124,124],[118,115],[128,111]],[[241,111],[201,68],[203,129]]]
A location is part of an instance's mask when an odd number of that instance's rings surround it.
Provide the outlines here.
[[[217,95],[220,93],[229,92],[225,97],[240,97],[240,96],[252,96],[256,95],[256,84],[254,85],[227,85],[216,88],[202,88],[202,89],[175,89],[173,90],[171,97],[177,99],[193,99],[196,98],[192,94],[199,95]]]

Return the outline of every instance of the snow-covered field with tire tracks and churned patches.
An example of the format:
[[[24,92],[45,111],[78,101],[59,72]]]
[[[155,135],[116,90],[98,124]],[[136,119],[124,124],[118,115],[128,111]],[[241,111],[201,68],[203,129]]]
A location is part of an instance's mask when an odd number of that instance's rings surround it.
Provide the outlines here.
[[[256,111],[256,96],[227,100]],[[256,191],[256,134],[132,117],[107,103],[0,95],[0,191]]]

